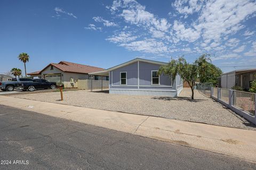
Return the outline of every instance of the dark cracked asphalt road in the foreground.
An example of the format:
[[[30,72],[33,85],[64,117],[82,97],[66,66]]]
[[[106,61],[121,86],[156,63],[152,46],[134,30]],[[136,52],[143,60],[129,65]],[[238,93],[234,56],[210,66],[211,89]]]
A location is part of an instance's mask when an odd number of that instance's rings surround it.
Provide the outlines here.
[[[0,160],[0,169],[256,169],[242,159],[2,105]]]

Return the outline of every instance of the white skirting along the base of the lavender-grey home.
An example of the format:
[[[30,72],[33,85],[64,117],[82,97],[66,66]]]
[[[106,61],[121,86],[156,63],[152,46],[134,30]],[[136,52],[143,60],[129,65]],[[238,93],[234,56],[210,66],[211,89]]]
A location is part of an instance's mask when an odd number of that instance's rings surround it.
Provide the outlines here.
[[[109,94],[177,97],[177,90],[109,89]]]

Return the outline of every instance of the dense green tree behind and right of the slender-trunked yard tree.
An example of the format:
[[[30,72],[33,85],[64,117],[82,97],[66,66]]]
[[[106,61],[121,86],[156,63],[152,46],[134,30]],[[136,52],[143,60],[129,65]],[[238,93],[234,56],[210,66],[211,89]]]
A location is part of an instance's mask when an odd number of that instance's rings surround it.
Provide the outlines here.
[[[214,86],[218,84],[222,71],[211,63],[209,54],[201,55],[195,64],[198,66],[198,79],[201,83],[212,83]]]

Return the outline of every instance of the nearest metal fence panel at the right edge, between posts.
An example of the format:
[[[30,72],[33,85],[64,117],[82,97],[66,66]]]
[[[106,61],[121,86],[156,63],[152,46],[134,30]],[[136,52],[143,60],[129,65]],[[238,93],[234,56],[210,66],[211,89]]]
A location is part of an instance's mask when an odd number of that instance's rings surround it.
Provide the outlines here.
[[[234,90],[234,106],[255,115],[255,94]]]

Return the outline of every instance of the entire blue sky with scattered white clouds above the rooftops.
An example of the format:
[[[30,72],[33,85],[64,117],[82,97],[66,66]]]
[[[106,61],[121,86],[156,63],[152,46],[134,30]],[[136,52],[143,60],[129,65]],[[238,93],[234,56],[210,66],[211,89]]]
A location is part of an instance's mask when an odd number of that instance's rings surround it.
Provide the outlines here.
[[[256,2],[246,0],[0,2],[0,73],[69,61],[108,68],[135,57],[204,53],[226,72],[256,67]],[[230,66],[230,67],[223,67]]]

